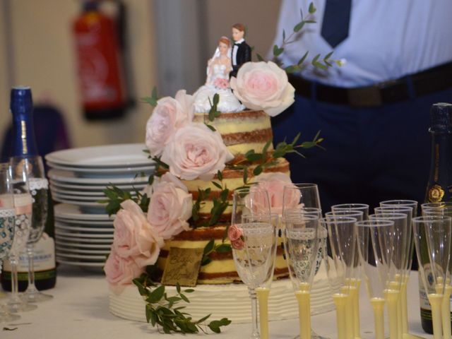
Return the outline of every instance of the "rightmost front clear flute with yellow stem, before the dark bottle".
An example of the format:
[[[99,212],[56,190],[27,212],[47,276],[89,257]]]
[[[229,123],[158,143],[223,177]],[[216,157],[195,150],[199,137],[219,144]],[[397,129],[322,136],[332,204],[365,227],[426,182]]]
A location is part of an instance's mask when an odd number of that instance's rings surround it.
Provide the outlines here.
[[[412,219],[419,274],[432,305],[434,339],[444,338],[441,304],[449,275],[451,228],[452,218],[447,215],[423,215]]]

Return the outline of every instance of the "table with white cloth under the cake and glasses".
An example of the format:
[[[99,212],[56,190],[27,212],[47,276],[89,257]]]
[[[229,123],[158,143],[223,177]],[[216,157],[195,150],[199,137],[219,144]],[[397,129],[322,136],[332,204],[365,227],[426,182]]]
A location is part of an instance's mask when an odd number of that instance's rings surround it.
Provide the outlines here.
[[[364,286],[364,285],[363,285]],[[419,314],[417,272],[413,271],[408,283],[408,317],[410,332],[433,338],[422,331]],[[373,338],[373,314],[365,288],[361,289],[362,338]],[[116,339],[116,338],[190,338],[200,335],[160,335],[146,323],[119,319],[108,311],[108,288],[101,274],[90,273],[81,268],[60,266],[57,287],[47,291],[54,296],[49,302],[39,304],[38,309],[22,313],[22,319],[2,323],[1,328],[17,328],[0,331],[1,339]],[[297,319],[270,321],[270,338],[289,339],[299,333]],[[335,311],[312,317],[312,328],[320,335],[336,338]],[[387,331],[387,326],[386,326]],[[250,324],[230,325],[219,335],[209,338],[248,338]]]

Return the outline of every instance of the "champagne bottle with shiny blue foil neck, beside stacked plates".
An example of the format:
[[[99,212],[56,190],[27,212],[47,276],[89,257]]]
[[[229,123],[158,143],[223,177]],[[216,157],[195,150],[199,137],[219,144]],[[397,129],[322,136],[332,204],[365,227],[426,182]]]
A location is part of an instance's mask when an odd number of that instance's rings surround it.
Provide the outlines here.
[[[28,87],[16,87],[11,90],[10,102],[11,114],[13,115],[13,145],[11,156],[27,157],[38,155],[37,143],[35,138],[35,129],[33,125],[33,106],[32,94]],[[35,192],[35,201],[39,202],[39,196],[42,194],[47,198],[48,213],[45,220],[44,234],[35,245],[35,286],[38,290],[47,290],[55,286],[57,281],[57,270],[55,268],[55,247],[54,240],[54,218],[53,203],[50,191],[43,187],[39,182],[30,181],[32,184],[38,184]],[[47,186],[47,185],[44,185]],[[45,190],[42,191],[42,190]],[[35,204],[34,204],[35,205]],[[35,206],[34,206],[35,207]],[[39,213],[36,213],[36,217]],[[35,221],[35,220],[34,220]],[[47,234],[51,235],[49,237]],[[4,290],[11,290],[11,269],[8,262],[4,263],[4,270],[1,275],[1,285]],[[19,256],[18,265],[18,287],[20,291],[26,289],[28,285],[28,256],[24,253]]]

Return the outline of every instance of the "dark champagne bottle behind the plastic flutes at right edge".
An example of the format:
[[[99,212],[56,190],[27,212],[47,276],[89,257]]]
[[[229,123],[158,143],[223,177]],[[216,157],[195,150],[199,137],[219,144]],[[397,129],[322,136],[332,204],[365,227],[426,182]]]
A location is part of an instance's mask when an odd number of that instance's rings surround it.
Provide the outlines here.
[[[430,162],[429,182],[424,201],[426,203],[439,203],[452,201],[452,105],[439,102],[432,105],[430,110],[429,133],[432,138],[432,160]],[[428,263],[428,254],[424,263]],[[421,265],[422,263],[420,263]],[[427,264],[426,264],[427,265]],[[429,270],[424,266],[425,270]],[[427,333],[433,333],[432,308],[422,281],[420,288],[420,311],[422,328]]]

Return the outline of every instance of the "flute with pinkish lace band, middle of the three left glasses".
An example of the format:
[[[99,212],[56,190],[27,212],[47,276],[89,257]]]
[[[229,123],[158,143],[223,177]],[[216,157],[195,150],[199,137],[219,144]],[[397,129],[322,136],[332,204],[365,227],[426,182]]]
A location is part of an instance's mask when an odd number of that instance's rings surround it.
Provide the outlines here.
[[[32,196],[29,191],[28,172],[23,162],[11,163],[11,177],[13,179],[16,221],[13,245],[8,256],[11,263],[11,297],[7,304],[8,309],[12,312],[31,311],[36,309],[37,306],[20,299],[18,292],[19,254],[27,246],[32,219]]]

